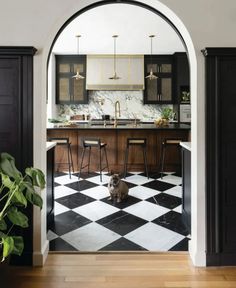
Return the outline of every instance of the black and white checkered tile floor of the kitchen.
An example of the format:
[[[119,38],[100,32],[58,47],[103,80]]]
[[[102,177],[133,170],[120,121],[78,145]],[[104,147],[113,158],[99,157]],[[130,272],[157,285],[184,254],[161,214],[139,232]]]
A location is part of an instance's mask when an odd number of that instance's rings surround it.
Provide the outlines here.
[[[108,200],[109,175],[59,173],[51,251],[184,251],[189,235],[181,218],[181,177],[129,173],[125,202]]]

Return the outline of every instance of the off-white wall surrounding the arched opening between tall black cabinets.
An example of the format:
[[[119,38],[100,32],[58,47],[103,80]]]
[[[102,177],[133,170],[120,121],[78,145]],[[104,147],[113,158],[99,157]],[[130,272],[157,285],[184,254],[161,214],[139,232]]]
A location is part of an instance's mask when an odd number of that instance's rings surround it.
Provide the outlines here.
[[[0,45],[32,45],[34,57],[34,164],[46,167],[46,60],[59,28],[76,11],[95,0],[22,0],[2,1],[0,9]],[[193,152],[193,231],[191,257],[196,265],[205,264],[205,165],[204,165],[204,58],[205,47],[236,46],[235,0],[140,0],[152,5],[175,22],[183,32],[191,55],[192,152]],[[162,3],[164,5],[162,5]],[[168,7],[166,7],[166,6]],[[14,9],[13,9],[14,8]],[[168,9],[169,8],[169,9]],[[171,10],[179,17],[176,18]],[[134,16],[134,15],[132,15]],[[184,26],[183,26],[184,24]],[[196,61],[195,61],[196,60]],[[197,70],[196,70],[197,69]],[[196,82],[197,80],[197,82]],[[45,197],[44,197],[45,198]],[[38,212],[37,212],[38,213]],[[34,263],[41,264],[47,252],[45,210],[35,218]],[[42,224],[42,225],[41,225]],[[42,230],[41,230],[42,226]]]

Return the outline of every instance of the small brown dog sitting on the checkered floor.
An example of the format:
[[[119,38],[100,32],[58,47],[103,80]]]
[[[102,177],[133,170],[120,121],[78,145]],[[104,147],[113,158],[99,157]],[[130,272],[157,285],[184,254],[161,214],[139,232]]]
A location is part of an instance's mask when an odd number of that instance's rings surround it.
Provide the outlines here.
[[[127,184],[120,179],[119,174],[111,175],[108,183],[108,190],[110,192],[109,200],[113,200],[120,203],[122,200],[128,197],[129,188]]]

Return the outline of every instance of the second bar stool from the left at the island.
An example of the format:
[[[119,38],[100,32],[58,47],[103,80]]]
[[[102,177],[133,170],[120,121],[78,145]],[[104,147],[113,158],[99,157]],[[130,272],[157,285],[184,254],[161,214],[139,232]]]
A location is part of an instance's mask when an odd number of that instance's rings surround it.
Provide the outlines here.
[[[107,168],[109,171],[108,167],[108,161],[107,161],[107,151],[106,151],[106,146],[107,143],[101,142],[100,138],[84,138],[82,140],[83,143],[83,152],[82,152],[82,159],[80,163],[80,172],[79,172],[79,177],[81,174],[82,169],[88,167],[88,173],[89,173],[89,166],[90,166],[90,156],[91,156],[91,148],[97,148],[99,149],[99,170],[100,170],[100,181],[102,182],[102,171]],[[83,166],[83,161],[84,161],[84,155],[85,151],[88,149],[88,163]],[[105,158],[106,158],[106,166],[102,168],[102,150],[104,151]]]

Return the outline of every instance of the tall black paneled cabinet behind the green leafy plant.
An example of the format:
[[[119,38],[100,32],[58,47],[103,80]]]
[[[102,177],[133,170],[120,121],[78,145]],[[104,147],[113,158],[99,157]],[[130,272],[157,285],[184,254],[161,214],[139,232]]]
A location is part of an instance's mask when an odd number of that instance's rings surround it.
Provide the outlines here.
[[[16,159],[20,171],[33,166],[33,55],[34,47],[0,46],[0,153]],[[33,254],[33,207],[24,213],[29,228],[19,229],[25,248],[21,257],[12,255],[11,262],[31,265]]]

